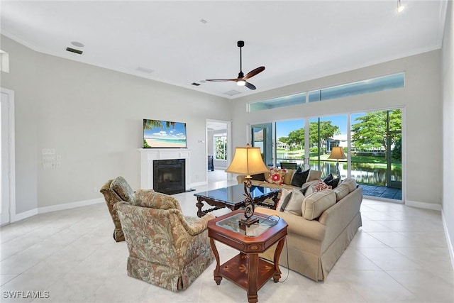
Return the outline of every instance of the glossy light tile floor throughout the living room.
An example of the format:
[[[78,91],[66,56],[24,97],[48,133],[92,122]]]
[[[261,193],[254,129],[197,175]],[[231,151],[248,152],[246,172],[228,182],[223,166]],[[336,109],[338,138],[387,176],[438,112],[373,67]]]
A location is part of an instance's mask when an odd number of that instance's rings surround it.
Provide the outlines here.
[[[196,191],[235,182],[210,182]],[[195,216],[194,192],[175,195]],[[221,212],[223,210],[219,210]],[[365,199],[363,226],[325,282],[281,268],[259,302],[454,302],[454,272],[439,211]],[[215,263],[183,292],[128,277],[126,242],[112,239],[105,204],[39,214],[0,228],[1,302],[246,302],[232,282],[213,280]],[[218,246],[221,261],[236,255]],[[11,299],[13,291],[48,298]]]

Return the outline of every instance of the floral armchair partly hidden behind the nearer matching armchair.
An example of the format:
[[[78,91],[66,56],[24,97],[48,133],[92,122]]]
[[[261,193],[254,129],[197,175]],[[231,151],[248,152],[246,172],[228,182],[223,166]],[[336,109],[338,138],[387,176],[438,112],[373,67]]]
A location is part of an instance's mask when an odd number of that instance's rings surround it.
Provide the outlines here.
[[[123,230],[121,228],[120,220],[114,209],[114,204],[117,202],[134,202],[134,191],[129,186],[128,182],[123,177],[116,177],[114,180],[109,180],[101,187],[100,192],[104,194],[104,199],[106,199],[107,208],[111,213],[112,221],[114,221],[114,239],[115,241],[125,241],[123,236]]]

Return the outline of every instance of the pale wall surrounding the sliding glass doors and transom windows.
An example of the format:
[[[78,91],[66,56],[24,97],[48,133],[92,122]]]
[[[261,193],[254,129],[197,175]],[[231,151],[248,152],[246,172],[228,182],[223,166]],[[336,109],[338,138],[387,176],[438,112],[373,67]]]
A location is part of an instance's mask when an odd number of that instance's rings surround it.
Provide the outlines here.
[[[385,92],[362,94],[343,99],[302,104],[299,106],[246,113],[248,101],[269,99],[336,84],[355,82],[382,75],[405,72],[405,87]],[[244,145],[248,137],[248,122],[261,123],[355,111],[404,107],[406,166],[406,203],[441,209],[442,175],[442,110],[441,110],[441,51],[405,57],[338,75],[289,85],[232,103],[233,146]]]

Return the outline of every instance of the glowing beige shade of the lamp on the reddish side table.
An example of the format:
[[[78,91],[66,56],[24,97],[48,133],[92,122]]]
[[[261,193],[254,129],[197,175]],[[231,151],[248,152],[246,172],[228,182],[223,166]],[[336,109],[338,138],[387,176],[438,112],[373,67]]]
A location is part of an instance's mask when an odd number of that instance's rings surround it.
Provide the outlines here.
[[[251,148],[249,144],[245,148],[235,149],[233,160],[226,169],[226,172],[248,176],[267,171],[268,167],[262,160],[260,148]]]

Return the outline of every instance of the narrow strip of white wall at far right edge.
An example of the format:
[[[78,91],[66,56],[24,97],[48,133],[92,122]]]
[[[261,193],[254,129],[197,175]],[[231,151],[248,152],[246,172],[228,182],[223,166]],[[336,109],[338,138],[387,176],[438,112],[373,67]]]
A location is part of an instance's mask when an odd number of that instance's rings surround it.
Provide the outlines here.
[[[450,180],[454,171],[454,6],[448,2],[445,33],[443,35],[443,219],[454,255],[454,187]],[[454,260],[453,260],[454,263]]]

